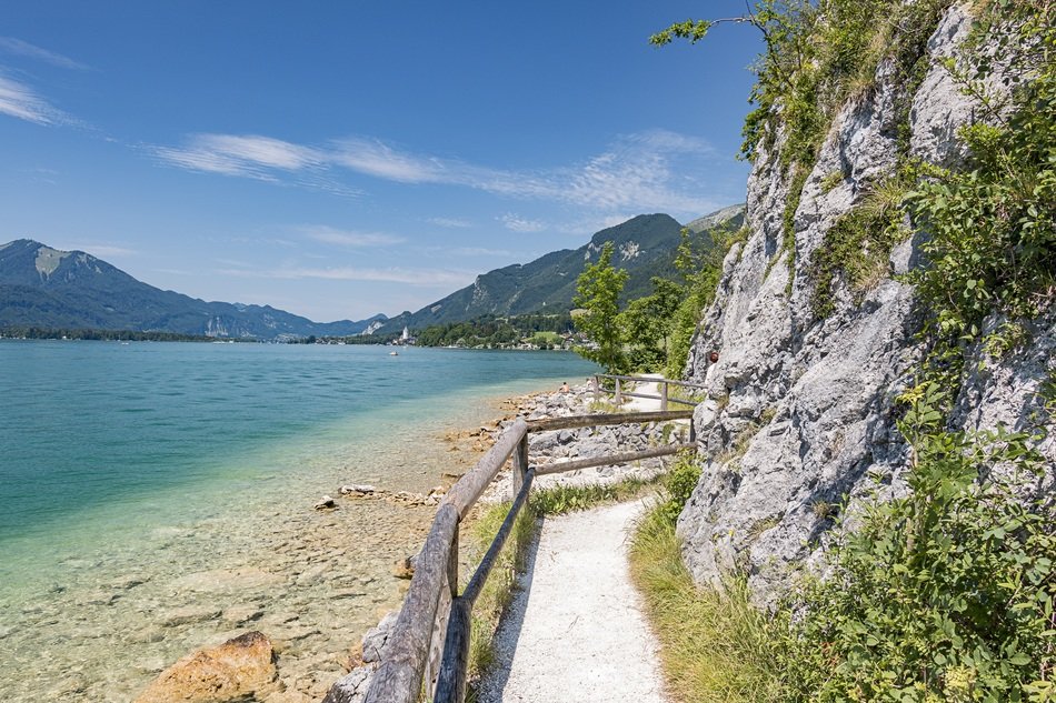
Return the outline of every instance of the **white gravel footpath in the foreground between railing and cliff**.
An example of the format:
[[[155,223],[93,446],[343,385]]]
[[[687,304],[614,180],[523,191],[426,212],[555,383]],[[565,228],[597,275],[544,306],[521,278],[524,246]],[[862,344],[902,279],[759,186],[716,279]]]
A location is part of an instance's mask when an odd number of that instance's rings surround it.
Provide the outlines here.
[[[480,703],[666,703],[657,644],[630,584],[642,503],[546,520]]]

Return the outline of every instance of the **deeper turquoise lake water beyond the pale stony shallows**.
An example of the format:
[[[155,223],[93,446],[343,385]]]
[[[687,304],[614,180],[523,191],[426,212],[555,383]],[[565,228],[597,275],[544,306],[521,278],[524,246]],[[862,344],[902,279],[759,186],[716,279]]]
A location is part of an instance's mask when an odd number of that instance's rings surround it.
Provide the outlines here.
[[[290,445],[398,442],[407,425],[454,424],[459,403],[592,371],[548,352],[3,340],[0,549],[127,522],[167,495],[205,501],[276,472],[311,481],[311,465],[283,463]]]

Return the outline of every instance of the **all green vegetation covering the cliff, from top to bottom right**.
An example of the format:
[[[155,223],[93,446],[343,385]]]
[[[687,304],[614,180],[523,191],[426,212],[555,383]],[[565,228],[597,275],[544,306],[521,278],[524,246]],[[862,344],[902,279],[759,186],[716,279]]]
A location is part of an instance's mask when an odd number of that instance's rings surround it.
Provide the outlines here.
[[[999,358],[1023,345],[1025,322],[1052,310],[1056,295],[1056,8],[1044,0],[973,8],[973,37],[945,68],[979,109],[958,134],[966,160],[940,168],[910,158],[908,118],[929,68],[927,39],[949,6],[761,0],[745,18],[719,20],[750,23],[766,39],[743,154],[773,160],[790,184],[789,259],[793,215],[821,140],[886,67],[903,116],[898,168],[868,185],[806,270],[824,319],[837,304],[835,287],[861,290],[887,275],[894,244],[925,232],[925,263],[908,280],[926,360],[898,409],[908,494],[851,511],[846,536],[826,554],[826,579],[805,578],[770,620],[716,615],[737,611],[736,579],[726,595],[701,596],[720,604],[700,617],[729,636],[697,637],[715,643],[700,657],[715,657],[724,673],[687,700],[1056,701],[1056,505],[1032,492],[1052,471],[1034,448],[1056,423],[1056,379],[1046,412],[1016,432],[949,425],[972,354]],[[715,23],[674,24],[654,42],[696,41]],[[995,77],[1009,77],[997,94]],[[823,188],[844,178],[830,175]],[[724,652],[740,641],[760,643],[763,661],[745,656],[741,670],[724,670],[736,660]]]

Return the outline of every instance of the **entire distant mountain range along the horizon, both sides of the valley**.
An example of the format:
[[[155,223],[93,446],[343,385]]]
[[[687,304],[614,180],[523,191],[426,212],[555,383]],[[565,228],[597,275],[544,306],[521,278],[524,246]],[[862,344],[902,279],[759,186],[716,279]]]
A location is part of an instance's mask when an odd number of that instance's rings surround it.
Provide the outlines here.
[[[695,232],[738,227],[735,205],[689,223]],[[576,279],[597,261],[605,242],[616,244],[614,263],[630,274],[625,300],[647,295],[649,279],[674,273],[681,224],[666,214],[644,214],[601,230],[579,249],[562,249],[526,264],[496,269],[471,285],[396,318],[312,322],[270,305],[206,302],[148,285],[82,251],[59,251],[30,239],[0,244],[0,328],[131,330],[226,339],[277,340],[399,332],[405,327],[462,322],[486,314],[567,312]]]

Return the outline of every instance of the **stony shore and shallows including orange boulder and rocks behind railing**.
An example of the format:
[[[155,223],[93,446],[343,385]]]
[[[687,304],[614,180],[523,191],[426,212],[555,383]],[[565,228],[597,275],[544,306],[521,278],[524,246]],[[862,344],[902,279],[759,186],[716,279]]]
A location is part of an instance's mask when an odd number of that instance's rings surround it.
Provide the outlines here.
[[[446,488],[515,416],[580,414],[591,411],[592,401],[586,385],[498,401],[469,428],[434,431],[389,449],[379,459],[385,465],[416,468],[391,484],[371,479],[367,492],[338,480],[328,490],[329,505],[316,494],[261,510],[251,495],[232,496],[230,514],[155,529],[135,549],[100,544],[66,559],[67,578],[37,583],[0,604],[7,613],[0,623],[0,697],[322,700],[378,649],[369,642],[361,649],[360,639],[398,609],[409,558]],[[532,462],[544,463],[631,451],[673,441],[678,431],[658,426],[644,433],[635,425],[539,433],[530,453]],[[651,460],[546,476],[539,484],[616,481],[659,470]],[[386,475],[381,465],[372,471]],[[506,498],[508,481],[500,476],[488,499]],[[253,675],[239,673],[242,665]],[[211,683],[201,689],[203,681]],[[185,697],[206,689],[212,697]]]

